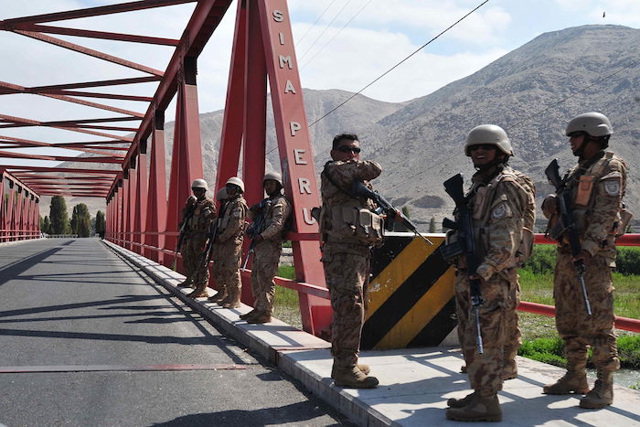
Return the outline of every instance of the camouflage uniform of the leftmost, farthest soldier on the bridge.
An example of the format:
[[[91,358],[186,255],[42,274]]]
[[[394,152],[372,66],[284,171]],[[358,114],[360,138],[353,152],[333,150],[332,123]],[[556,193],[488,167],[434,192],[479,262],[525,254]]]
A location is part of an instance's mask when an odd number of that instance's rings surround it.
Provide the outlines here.
[[[185,218],[193,208],[193,215]],[[200,266],[202,252],[207,248],[209,226],[216,218],[216,204],[210,198],[196,201],[195,206],[187,205],[182,210],[183,221],[187,220],[187,235],[182,249],[182,261],[185,264],[187,280],[192,280],[197,289],[204,290],[208,285],[208,266]]]

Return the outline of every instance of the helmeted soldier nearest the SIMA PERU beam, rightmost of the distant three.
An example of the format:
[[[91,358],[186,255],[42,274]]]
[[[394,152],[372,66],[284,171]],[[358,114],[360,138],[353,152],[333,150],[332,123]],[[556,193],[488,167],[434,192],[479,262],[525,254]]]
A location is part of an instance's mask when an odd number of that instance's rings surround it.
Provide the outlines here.
[[[251,292],[255,304],[251,312],[240,315],[240,318],[250,324],[268,323],[272,320],[275,293],[273,278],[278,272],[285,225],[291,214],[291,205],[281,194],[283,177],[280,174],[266,174],[262,179],[262,187],[268,197],[249,209],[249,218],[253,219],[253,223],[247,230],[251,244],[255,245],[251,264]]]

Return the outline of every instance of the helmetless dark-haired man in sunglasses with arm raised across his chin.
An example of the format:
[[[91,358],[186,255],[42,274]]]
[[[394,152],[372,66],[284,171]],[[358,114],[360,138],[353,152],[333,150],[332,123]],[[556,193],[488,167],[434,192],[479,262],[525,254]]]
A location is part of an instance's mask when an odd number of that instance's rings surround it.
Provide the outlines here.
[[[353,197],[350,188],[354,180],[368,185],[382,169],[376,162],[359,160],[360,143],[355,134],[337,135],[331,158],[321,174],[320,214],[322,262],[334,312],[331,376],[338,387],[372,389],[378,386],[378,379],[368,377],[367,365],[357,364],[357,354],[364,321],[363,287],[368,281],[371,246],[382,240],[382,224],[370,210],[373,203]],[[368,220],[370,227],[362,227],[363,220]]]

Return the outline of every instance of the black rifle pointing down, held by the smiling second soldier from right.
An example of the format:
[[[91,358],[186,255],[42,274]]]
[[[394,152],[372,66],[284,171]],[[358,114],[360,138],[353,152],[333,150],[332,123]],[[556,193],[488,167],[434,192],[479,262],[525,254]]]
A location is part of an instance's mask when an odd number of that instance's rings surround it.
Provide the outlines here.
[[[467,205],[467,199],[463,191],[464,178],[462,174],[450,177],[444,181],[444,191],[447,192],[455,202],[455,208],[460,216],[457,222],[445,218],[443,226],[447,229],[457,231],[458,240],[448,245],[442,246],[440,251],[444,259],[464,254],[466,258],[467,276],[469,287],[471,288],[471,309],[475,315],[475,345],[478,354],[483,353],[482,334],[480,332],[480,307],[485,303],[480,291],[480,279],[475,278],[475,274],[480,265],[480,260],[475,251],[474,226],[471,220],[471,209]],[[474,277],[474,278],[472,278]]]

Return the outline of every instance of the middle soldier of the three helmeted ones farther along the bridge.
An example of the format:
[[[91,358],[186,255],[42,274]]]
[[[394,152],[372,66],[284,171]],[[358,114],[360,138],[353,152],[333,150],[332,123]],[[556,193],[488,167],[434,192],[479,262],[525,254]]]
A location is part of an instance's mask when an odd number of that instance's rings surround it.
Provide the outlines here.
[[[217,294],[214,301],[224,308],[238,308],[242,288],[239,269],[247,202],[242,197],[244,183],[238,176],[230,177],[225,188],[228,199],[224,209],[220,209],[218,230],[213,246],[212,272],[220,290],[219,296]]]

